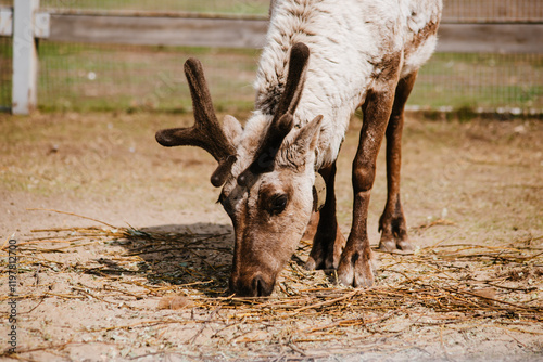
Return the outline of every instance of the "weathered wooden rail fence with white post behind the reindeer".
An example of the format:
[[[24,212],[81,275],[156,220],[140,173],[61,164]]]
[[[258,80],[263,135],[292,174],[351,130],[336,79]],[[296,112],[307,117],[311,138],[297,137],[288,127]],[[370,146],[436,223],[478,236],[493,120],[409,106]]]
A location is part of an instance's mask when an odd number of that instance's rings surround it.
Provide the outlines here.
[[[37,104],[35,38],[78,43],[262,48],[267,18],[194,13],[63,10],[42,13],[39,0],[0,8],[0,36],[13,38],[12,112]],[[438,52],[543,53],[543,24],[459,23],[443,20]]]

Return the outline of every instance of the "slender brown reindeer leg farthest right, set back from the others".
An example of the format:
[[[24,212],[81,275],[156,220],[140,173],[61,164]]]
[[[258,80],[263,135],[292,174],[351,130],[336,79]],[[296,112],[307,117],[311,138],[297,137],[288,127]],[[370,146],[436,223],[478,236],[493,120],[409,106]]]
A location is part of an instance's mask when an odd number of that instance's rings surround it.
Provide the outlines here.
[[[400,201],[400,168],[402,163],[402,129],[404,107],[413,89],[417,72],[397,82],[394,105],[387,127],[387,204],[379,219],[381,241],[379,248],[386,251],[413,249]]]

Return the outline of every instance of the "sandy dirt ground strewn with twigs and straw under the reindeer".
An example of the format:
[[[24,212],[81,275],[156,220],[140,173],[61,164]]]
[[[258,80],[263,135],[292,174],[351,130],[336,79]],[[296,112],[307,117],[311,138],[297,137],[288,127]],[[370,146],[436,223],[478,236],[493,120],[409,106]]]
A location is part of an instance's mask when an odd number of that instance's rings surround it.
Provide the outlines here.
[[[154,141],[191,115],[0,115],[0,359],[542,360],[543,122],[442,118],[404,131],[414,254],[378,253],[356,290],[303,270],[303,241],[270,298],[236,300],[213,158]],[[345,234],[359,128],[339,159]],[[381,153],[372,245],[384,198]]]

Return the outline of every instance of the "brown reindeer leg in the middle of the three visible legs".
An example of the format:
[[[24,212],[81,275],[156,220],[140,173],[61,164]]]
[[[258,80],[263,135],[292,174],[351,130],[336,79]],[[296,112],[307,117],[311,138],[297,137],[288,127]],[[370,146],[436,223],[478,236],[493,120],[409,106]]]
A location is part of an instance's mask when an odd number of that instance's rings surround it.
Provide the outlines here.
[[[375,260],[369,247],[367,216],[376,160],[394,100],[393,89],[368,91],[363,105],[364,124],[353,161],[353,224],[338,269],[339,282],[354,287],[374,284]]]

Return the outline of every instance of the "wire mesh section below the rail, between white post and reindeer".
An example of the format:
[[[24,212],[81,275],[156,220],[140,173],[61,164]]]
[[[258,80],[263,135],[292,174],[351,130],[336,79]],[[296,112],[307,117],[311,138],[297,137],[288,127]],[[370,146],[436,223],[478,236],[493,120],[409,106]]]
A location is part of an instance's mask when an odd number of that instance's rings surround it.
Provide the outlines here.
[[[45,42],[40,54],[42,108],[182,112],[191,106],[189,56],[204,64],[218,111],[250,108],[258,51]]]

